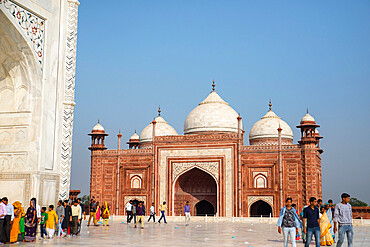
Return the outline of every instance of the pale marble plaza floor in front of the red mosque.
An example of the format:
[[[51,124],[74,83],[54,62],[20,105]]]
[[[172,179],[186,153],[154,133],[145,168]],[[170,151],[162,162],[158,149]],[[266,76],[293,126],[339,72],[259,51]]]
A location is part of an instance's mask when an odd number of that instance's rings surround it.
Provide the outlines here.
[[[370,246],[370,227],[355,227],[354,246]],[[144,229],[133,224],[112,222],[107,226],[86,226],[81,236],[37,240],[17,246],[283,246],[282,235],[270,224],[251,223],[183,223],[154,224]],[[314,246],[314,243],[311,243]],[[291,246],[291,245],[289,245]],[[302,240],[297,246],[304,246]],[[335,246],[335,245],[334,245]],[[343,246],[347,246],[344,244]]]

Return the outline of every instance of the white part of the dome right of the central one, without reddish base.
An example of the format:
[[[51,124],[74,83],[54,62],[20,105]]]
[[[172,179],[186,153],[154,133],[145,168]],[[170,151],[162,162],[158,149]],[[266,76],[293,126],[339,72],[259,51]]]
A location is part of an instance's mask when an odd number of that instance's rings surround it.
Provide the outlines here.
[[[278,128],[282,129],[281,138],[292,139],[293,132],[289,125],[280,119],[272,110],[255,123],[249,132],[249,140],[260,138],[278,138]]]

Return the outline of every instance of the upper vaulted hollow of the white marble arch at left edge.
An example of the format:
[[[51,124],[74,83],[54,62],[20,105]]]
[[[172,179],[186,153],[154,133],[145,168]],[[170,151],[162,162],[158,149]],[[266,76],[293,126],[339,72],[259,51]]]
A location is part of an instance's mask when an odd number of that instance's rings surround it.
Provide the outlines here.
[[[0,113],[32,112],[32,103],[40,104],[41,76],[28,43],[0,10]]]

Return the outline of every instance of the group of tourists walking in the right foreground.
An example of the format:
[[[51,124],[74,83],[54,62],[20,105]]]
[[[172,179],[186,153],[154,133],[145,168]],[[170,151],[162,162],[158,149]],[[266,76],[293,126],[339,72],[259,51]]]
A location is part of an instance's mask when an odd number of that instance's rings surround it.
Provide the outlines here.
[[[343,193],[342,201],[336,205],[333,200],[323,205],[321,199],[311,197],[309,205],[303,207],[298,215],[296,205],[292,198],[286,199],[286,206],[280,210],[277,222],[278,232],[283,233],[284,246],[288,246],[290,237],[292,246],[296,246],[296,240],[301,238],[298,229],[301,228],[301,235],[305,247],[310,246],[315,236],[316,247],[330,246],[335,242],[335,233],[338,231],[337,246],[342,246],[345,235],[348,246],[353,246],[352,208],[349,204],[350,195]]]

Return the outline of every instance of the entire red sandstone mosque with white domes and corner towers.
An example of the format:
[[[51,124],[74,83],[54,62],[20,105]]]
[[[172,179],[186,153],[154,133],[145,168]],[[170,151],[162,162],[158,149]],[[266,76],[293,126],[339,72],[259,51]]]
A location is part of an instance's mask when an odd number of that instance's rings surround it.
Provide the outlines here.
[[[183,215],[190,202],[192,215],[220,217],[278,216],[285,198],[298,209],[314,196],[322,198],[321,154],[316,130],[307,114],[293,132],[269,104],[268,112],[244,143],[242,118],[215,91],[185,119],[179,135],[161,116],[127,142],[129,149],[108,150],[108,134],[99,123],[89,134],[92,143],[90,195],[107,201],[117,215],[129,200],[167,202],[168,215]],[[158,212],[157,212],[158,214]]]

